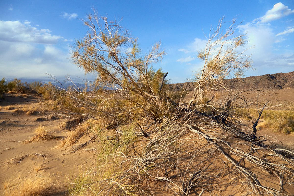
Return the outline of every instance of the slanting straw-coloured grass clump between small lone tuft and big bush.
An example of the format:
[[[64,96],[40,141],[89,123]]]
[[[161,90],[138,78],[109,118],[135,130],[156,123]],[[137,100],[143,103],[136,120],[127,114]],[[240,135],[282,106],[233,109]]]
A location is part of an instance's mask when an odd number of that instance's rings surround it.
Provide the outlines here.
[[[73,131],[68,132],[67,138],[62,140],[56,148],[67,147],[74,145],[91,127],[89,122],[84,122],[78,125]]]

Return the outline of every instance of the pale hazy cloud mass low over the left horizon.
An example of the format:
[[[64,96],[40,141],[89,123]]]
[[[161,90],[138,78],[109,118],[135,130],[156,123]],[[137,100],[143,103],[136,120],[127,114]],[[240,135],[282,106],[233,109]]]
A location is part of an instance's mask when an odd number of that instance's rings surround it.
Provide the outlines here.
[[[0,77],[47,78],[44,73],[64,80],[64,76],[83,77],[84,73],[69,61],[69,47],[0,41]]]

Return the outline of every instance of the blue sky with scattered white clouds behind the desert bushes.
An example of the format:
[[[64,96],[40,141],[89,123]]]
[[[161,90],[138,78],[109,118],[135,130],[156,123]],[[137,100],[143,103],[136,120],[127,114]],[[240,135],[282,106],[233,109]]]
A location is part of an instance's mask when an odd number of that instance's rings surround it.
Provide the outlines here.
[[[197,51],[204,34],[224,16],[242,22],[253,70],[245,76],[294,71],[294,1],[1,1],[0,78],[81,81],[84,72],[70,61],[70,45],[88,31],[81,19],[95,8],[108,19],[121,19],[143,53],[161,41],[167,55],[154,68],[168,71],[171,83],[186,82],[203,65]]]

